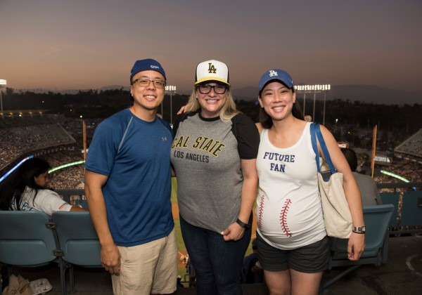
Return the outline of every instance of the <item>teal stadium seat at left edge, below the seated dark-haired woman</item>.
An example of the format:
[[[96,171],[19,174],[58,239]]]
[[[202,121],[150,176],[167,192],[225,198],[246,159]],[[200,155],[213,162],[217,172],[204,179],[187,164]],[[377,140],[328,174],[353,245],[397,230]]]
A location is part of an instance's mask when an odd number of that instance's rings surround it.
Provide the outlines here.
[[[0,262],[7,265],[39,267],[60,263],[50,216],[41,211],[0,211]]]

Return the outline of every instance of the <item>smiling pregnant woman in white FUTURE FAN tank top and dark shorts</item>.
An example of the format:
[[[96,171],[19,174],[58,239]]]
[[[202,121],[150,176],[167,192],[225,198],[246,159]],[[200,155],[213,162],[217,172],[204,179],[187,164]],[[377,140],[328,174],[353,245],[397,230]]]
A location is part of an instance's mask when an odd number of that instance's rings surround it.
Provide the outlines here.
[[[259,91],[262,108],[257,124],[261,143],[256,217],[260,264],[270,294],[318,294],[329,248],[310,123],[303,120],[293,79],[287,72],[265,72]],[[362,199],[352,171],[330,131],[321,126],[321,132],[335,169],[343,173],[353,226],[363,226]],[[364,235],[352,232],[350,260],[360,258],[364,244]]]

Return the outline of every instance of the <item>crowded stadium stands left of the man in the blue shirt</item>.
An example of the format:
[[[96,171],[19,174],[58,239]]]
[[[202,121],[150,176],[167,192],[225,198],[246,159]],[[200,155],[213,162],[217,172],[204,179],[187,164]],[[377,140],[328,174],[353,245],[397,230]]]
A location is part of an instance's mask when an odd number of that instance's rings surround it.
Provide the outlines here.
[[[87,120],[88,140],[99,122],[101,119]],[[27,155],[43,157],[53,167],[83,159],[80,119],[58,114],[5,115],[0,117],[0,138],[0,176]],[[79,165],[54,173],[52,176],[57,179],[51,182],[51,187],[75,188],[83,180],[83,172]]]

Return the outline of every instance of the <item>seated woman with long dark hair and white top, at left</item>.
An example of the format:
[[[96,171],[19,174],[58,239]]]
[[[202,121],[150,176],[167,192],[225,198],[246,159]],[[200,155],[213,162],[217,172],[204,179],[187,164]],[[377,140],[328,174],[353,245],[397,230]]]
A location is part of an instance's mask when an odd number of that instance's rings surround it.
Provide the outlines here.
[[[87,211],[65,202],[53,190],[47,190],[49,162],[31,158],[23,162],[14,173],[0,183],[0,210]]]

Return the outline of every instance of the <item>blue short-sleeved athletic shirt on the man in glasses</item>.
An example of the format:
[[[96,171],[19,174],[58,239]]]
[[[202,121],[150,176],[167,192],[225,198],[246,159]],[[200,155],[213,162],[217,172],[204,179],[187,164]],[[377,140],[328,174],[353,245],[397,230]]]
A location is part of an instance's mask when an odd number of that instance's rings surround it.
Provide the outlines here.
[[[85,168],[108,176],[103,186],[107,220],[117,246],[136,246],[166,237],[172,217],[170,124],[146,122],[129,109],[99,124]]]

